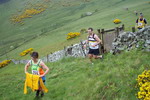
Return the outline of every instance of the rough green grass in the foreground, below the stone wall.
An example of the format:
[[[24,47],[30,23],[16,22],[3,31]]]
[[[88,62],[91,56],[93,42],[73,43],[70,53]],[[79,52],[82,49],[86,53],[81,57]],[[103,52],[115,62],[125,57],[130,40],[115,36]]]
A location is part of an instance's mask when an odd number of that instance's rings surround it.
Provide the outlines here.
[[[137,100],[136,78],[150,67],[150,53],[133,50],[120,55],[106,54],[104,60],[64,58],[46,63],[49,92],[41,100]],[[1,68],[1,100],[33,100],[35,92],[23,94],[24,65]]]

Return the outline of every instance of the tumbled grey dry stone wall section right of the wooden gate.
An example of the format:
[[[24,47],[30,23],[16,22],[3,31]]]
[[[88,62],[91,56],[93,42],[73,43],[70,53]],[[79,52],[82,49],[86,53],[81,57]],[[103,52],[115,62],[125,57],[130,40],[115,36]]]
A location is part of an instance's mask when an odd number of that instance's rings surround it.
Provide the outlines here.
[[[137,32],[123,32],[114,39],[112,43],[113,49],[110,51],[115,54],[123,50],[131,50],[133,48],[150,51],[150,26],[145,27]]]

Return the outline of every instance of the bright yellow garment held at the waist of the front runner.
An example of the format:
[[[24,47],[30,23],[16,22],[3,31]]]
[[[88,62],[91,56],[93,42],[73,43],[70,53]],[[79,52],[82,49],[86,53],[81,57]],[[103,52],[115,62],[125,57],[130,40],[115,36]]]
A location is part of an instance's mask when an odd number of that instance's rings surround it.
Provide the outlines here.
[[[32,91],[38,90],[39,86],[42,87],[44,92],[48,92],[48,89],[45,87],[43,80],[39,75],[33,75],[26,73],[26,80],[24,84],[24,94],[27,94],[27,87],[30,87]]]

